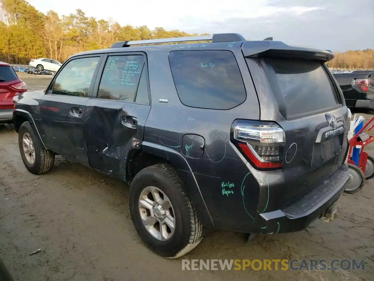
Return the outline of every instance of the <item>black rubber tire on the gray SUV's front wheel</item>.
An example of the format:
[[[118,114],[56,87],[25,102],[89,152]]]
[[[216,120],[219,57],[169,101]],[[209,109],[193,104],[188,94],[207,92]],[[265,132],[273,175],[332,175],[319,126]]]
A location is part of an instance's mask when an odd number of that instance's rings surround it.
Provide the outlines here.
[[[24,137],[28,137],[29,139],[31,139],[31,146],[29,145],[27,148],[31,148],[29,150],[34,149],[34,161],[32,161],[30,157],[27,158],[26,156],[24,150],[24,145],[26,144],[26,142],[24,143]],[[43,148],[42,143],[40,143],[39,138],[37,138],[37,136],[34,134],[34,131],[30,126],[30,122],[28,121],[22,123],[21,127],[19,128],[18,146],[22,161],[24,162],[26,169],[30,173],[40,175],[43,173],[47,173],[52,169],[53,164],[55,163],[55,154]]]

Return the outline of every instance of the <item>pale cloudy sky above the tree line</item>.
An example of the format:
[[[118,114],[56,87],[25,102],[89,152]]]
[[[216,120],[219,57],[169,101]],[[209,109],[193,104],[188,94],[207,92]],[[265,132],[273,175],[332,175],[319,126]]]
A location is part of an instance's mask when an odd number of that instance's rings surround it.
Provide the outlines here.
[[[188,33],[240,33],[288,45],[344,52],[374,49],[373,0],[28,0],[43,13],[82,9],[121,25]]]

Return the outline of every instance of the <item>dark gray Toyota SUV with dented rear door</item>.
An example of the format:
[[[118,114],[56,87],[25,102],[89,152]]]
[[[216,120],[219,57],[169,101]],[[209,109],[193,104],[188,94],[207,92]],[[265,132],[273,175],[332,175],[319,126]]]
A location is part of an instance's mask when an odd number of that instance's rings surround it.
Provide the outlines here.
[[[191,41],[207,42],[181,44]],[[157,45],[167,42],[178,44]],[[135,229],[164,257],[192,250],[203,226],[299,231],[331,210],[348,179],[348,111],[332,58],[239,34],[79,53],[46,90],[19,97],[21,156],[34,174],[60,154],[130,184]]]

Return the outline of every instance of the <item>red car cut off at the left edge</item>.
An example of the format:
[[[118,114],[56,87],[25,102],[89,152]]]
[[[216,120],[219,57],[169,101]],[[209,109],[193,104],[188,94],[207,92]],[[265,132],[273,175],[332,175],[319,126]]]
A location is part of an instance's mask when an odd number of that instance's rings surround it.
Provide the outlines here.
[[[10,64],[0,61],[0,123],[12,123],[13,97],[27,91]]]

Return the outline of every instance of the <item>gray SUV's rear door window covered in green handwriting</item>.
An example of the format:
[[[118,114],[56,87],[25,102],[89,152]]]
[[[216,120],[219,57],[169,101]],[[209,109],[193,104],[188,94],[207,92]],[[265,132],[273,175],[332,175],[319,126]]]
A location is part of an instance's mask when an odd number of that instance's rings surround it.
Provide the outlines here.
[[[99,99],[134,102],[143,65],[143,55],[117,55],[108,57],[104,72],[102,73],[97,97]],[[144,85],[144,81],[142,81],[142,84]],[[139,100],[144,100],[143,86],[141,91],[142,94],[140,96],[142,97],[139,97]],[[148,89],[146,94],[148,97]]]

